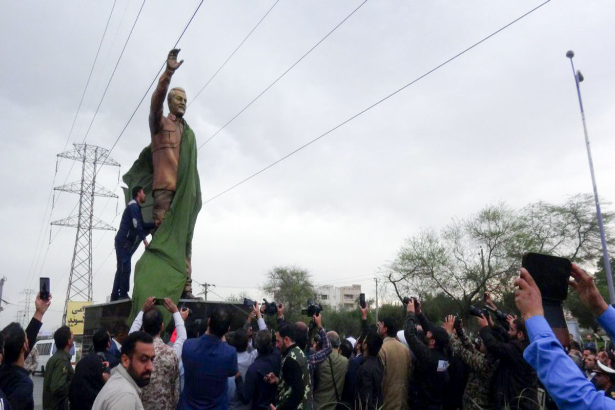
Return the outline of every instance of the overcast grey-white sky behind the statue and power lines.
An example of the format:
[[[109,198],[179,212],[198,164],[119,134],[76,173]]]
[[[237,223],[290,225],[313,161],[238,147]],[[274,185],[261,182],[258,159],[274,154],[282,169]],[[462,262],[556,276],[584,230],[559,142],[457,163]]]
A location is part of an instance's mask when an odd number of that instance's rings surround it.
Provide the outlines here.
[[[194,96],[252,30],[268,1],[206,1],[178,47],[185,63],[185,119],[202,144],[308,52],[362,1],[280,0],[196,100]],[[57,154],[68,140],[111,148],[199,1],[147,0],[108,92],[140,0],[117,0],[84,103],[69,136],[113,1],[12,2],[4,41],[0,116],[3,298],[0,326],[15,320],[19,293],[51,278],[46,328],[60,325],[75,231],[53,227],[77,195],[47,208],[52,184],[79,180]],[[237,119],[199,149],[205,200],[541,4],[540,1],[365,2],[343,25]],[[615,3],[553,0],[483,44],[348,122],[308,148],[204,205],[193,275],[226,298],[255,287],[273,266],[296,264],[315,283],[373,277],[403,239],[488,203],[522,207],[591,192],[574,78],[582,83],[598,190],[615,198]],[[148,93],[111,157],[122,174],[149,144]],[[165,107],[165,112],[167,111]],[[90,132],[86,131],[92,122]],[[113,189],[117,168],[98,174]],[[121,189],[116,188],[117,194]],[[124,204],[119,203],[121,213]],[[119,224],[116,201],[95,215]],[[41,234],[42,232],[42,234]],[[111,232],[93,234],[94,299],[105,301],[116,267]],[[37,243],[39,247],[37,248]],[[49,245],[49,247],[48,247]],[[47,251],[47,248],[49,250]],[[133,256],[133,266],[143,248]],[[45,258],[46,255],[46,258]],[[43,263],[44,261],[44,263]],[[132,278],[131,278],[132,288]],[[219,296],[210,295],[213,299]]]

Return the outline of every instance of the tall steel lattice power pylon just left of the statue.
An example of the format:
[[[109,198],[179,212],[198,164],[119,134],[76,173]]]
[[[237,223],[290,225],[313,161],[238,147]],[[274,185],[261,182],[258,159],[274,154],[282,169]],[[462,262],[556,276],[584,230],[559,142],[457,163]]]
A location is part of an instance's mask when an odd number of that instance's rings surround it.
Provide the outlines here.
[[[120,166],[109,158],[108,149],[88,144],[73,145],[73,150],[62,152],[58,157],[81,162],[81,181],[55,187],[54,191],[79,194],[79,213],[51,223],[77,228],[62,323],[66,321],[68,301],[92,301],[92,229],[115,231],[114,227],[93,215],[94,197],[117,198],[116,194],[96,183],[96,175],[103,165]]]

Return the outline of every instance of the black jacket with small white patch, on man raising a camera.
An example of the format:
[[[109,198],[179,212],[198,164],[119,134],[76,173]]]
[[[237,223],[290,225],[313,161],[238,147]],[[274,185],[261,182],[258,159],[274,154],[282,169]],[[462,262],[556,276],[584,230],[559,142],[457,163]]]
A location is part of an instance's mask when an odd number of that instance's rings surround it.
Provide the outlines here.
[[[416,368],[413,380],[416,383],[415,403],[412,408],[442,408],[443,396],[448,394],[450,377],[448,376],[448,355],[438,349],[429,349],[416,336],[416,317],[414,313],[406,315],[403,328],[410,350],[416,356]],[[423,313],[419,314],[421,326],[427,331],[431,327]]]

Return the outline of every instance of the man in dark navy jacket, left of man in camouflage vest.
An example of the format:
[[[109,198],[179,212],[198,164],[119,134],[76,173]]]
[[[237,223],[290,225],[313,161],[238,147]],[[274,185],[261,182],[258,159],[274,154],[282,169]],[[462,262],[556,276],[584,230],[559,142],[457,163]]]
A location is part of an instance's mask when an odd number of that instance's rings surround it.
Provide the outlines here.
[[[252,410],[269,410],[269,404],[276,398],[276,386],[265,382],[263,375],[273,373],[278,377],[282,356],[279,350],[273,348],[271,332],[267,329],[256,333],[254,347],[258,357],[250,365],[245,376],[236,374],[236,392],[242,403],[249,404],[252,401],[250,407]]]

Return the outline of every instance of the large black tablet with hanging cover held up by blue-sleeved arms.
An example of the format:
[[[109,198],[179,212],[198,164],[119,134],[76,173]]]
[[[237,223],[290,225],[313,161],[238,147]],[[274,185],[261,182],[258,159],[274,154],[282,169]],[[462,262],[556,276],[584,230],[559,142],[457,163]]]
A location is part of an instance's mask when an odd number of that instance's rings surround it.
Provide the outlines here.
[[[562,302],[568,298],[568,279],[572,263],[569,259],[544,253],[523,255],[522,267],[530,272],[541,291],[544,317],[563,347],[570,344]]]

